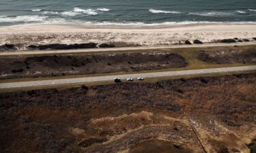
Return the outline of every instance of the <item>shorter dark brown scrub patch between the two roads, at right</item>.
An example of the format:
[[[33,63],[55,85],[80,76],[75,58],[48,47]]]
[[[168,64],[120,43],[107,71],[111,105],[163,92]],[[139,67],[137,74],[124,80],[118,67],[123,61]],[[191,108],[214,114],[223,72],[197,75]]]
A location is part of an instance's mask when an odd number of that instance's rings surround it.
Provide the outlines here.
[[[201,51],[198,58],[214,64],[256,63],[256,50]]]

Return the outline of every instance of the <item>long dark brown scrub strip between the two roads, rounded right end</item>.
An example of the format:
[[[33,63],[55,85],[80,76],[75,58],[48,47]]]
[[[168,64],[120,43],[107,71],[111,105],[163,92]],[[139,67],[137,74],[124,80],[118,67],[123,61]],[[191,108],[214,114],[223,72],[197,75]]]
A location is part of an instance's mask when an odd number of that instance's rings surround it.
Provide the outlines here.
[[[0,78],[45,77],[186,67],[179,54],[147,52],[54,56],[1,56]]]

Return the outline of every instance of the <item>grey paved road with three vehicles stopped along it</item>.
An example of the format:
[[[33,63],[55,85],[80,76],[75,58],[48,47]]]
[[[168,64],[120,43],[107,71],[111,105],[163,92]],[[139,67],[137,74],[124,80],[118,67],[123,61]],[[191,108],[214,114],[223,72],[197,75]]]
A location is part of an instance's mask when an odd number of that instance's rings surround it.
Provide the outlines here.
[[[2,83],[0,84],[0,89],[4,88],[20,88],[20,87],[35,87],[35,86],[53,86],[61,84],[79,84],[86,82],[104,82],[113,80],[113,78],[118,77],[122,80],[127,78],[156,78],[156,77],[167,77],[167,76],[177,76],[177,75],[196,75],[196,74],[207,74],[207,73],[221,73],[221,72],[231,72],[231,71],[252,71],[256,70],[256,65],[252,66],[242,66],[242,67],[223,67],[223,68],[213,68],[213,69],[193,69],[184,71],[163,71],[154,73],[136,73],[136,74],[126,74],[126,75],[107,75],[98,77],[87,77],[87,78],[70,78],[70,79],[59,79],[59,80],[40,80],[31,82],[12,82],[12,83]]]

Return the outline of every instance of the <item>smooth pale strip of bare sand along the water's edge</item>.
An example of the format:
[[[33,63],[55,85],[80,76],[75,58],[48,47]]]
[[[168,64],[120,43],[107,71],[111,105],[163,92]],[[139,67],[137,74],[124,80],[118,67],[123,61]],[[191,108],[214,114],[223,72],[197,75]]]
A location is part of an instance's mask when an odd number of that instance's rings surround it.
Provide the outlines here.
[[[61,29],[76,29],[76,30],[84,30],[84,29],[110,29],[110,30],[147,30],[147,29],[178,29],[178,28],[194,28],[194,27],[256,27],[255,23],[245,23],[245,24],[238,24],[238,23],[192,23],[192,24],[152,24],[152,25],[129,25],[129,24],[19,24],[19,25],[12,25],[12,26],[4,26],[0,27],[0,33],[8,31],[7,29],[16,30],[16,29],[27,29],[31,30],[37,27],[40,29],[47,29],[47,30],[59,30]],[[230,28],[230,27],[229,27]],[[203,28],[205,29],[205,28]],[[231,30],[231,29],[229,29]],[[241,29],[240,29],[241,30]],[[246,29],[248,31],[248,29]]]

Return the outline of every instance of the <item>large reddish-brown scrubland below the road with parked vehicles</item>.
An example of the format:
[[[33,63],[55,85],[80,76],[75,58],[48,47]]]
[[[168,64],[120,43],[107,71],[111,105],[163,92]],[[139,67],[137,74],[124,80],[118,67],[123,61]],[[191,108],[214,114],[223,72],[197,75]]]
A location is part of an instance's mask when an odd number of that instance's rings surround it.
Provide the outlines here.
[[[152,143],[141,140],[163,136],[182,141],[184,146],[157,140],[152,150],[159,148],[166,152],[169,148],[189,152],[188,146],[199,145],[190,126],[178,121],[167,122],[157,117],[160,114],[196,120],[208,133],[214,133],[212,137],[219,134],[209,120],[222,124],[227,130],[236,130],[240,137],[247,137],[248,133],[239,132],[240,127],[252,129],[256,124],[255,86],[256,73],[248,73],[1,93],[0,152],[118,152],[131,147],[130,152],[139,152],[147,151],[146,147]],[[154,112],[154,115],[94,120],[141,111]],[[142,125],[143,128],[138,129]],[[76,129],[83,133],[79,134]],[[122,135],[129,129],[137,131]],[[121,138],[109,141],[115,135]],[[104,141],[108,143],[102,143]],[[220,144],[222,148],[216,148],[215,152],[230,150],[223,146],[225,143]]]

